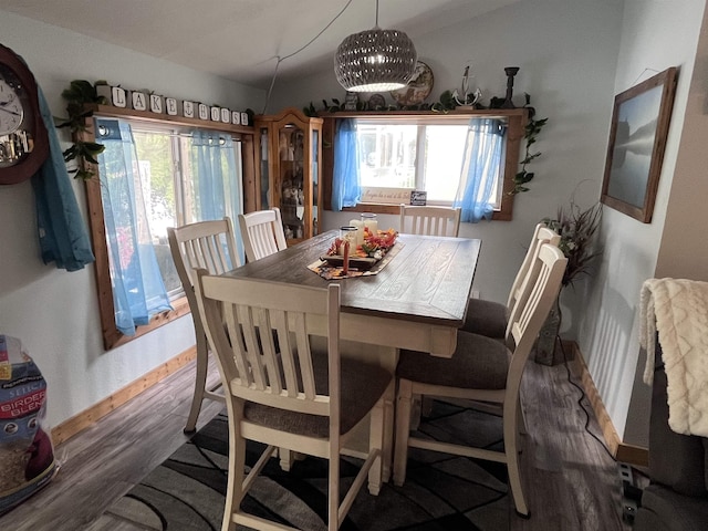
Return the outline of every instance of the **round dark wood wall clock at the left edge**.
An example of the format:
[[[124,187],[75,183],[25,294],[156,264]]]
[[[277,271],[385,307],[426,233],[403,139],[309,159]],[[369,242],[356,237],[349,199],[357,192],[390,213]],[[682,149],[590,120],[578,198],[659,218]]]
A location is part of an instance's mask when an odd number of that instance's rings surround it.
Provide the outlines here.
[[[0,44],[0,185],[32,177],[48,155],[34,76],[17,53]]]

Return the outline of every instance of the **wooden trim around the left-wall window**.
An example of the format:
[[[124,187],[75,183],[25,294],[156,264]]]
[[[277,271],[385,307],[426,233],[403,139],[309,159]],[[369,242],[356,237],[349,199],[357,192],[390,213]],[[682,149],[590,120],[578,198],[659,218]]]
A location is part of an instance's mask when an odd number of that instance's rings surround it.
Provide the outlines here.
[[[244,209],[246,198],[249,197],[247,190],[256,186],[254,153],[253,153],[253,127],[243,125],[232,125],[219,122],[207,122],[202,119],[185,118],[183,116],[169,116],[144,111],[126,110],[110,105],[87,105],[86,111],[92,111],[94,116],[106,118],[126,118],[145,124],[162,124],[174,127],[189,127],[209,131],[219,131],[239,136],[242,143],[241,157],[243,169],[243,197]],[[93,116],[86,118],[85,131],[80,136],[85,142],[95,142]],[[92,169],[98,175],[98,167],[92,165]],[[105,239],[105,221],[103,218],[103,201],[101,199],[101,181],[93,178],[85,181],[86,205],[88,208],[88,230],[95,256],[95,278],[96,291],[98,293],[98,313],[101,316],[101,330],[103,333],[103,346],[106,351],[124,345],[146,333],[163,326],[183,315],[189,313],[189,304],[186,296],[171,301],[174,310],[162,312],[155,315],[149,324],[137,326],[135,335],[122,334],[115,326],[115,306],[113,304],[113,289],[111,284],[111,273],[108,269],[108,247]],[[246,210],[248,211],[248,210]]]

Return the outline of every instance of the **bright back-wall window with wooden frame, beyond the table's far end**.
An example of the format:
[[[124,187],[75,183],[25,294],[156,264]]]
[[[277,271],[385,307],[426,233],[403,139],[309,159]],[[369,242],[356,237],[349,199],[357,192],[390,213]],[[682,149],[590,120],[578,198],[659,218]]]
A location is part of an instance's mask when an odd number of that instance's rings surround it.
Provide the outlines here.
[[[486,190],[491,218],[511,219],[513,196],[508,191],[513,188],[513,176],[518,170],[525,110],[330,114],[325,116],[324,135],[325,146],[330,144],[333,148],[325,148],[323,157],[325,208],[333,206],[331,179],[334,173],[341,177],[341,169],[335,169],[334,160],[336,153],[342,153],[335,132],[344,118],[352,118],[354,124],[346,131],[355,132],[361,187],[357,205],[344,210],[396,214],[399,204],[409,201],[412,190],[426,191],[429,205],[459,205],[468,187],[461,176],[467,176],[475,169],[470,166],[477,165],[477,178],[480,180],[473,186],[478,190],[477,199]],[[477,118],[473,122],[485,125],[470,126],[473,123],[470,118]],[[476,128],[481,131],[492,123],[501,139],[498,145],[488,144],[485,134],[470,136],[477,134]],[[472,150],[466,152],[468,136]],[[348,156],[350,152],[346,153]],[[485,165],[478,156],[480,153],[493,164]],[[353,165],[347,164],[346,167]],[[345,184],[342,188],[337,184],[334,189],[337,194],[347,195],[352,187]],[[347,201],[341,204],[346,205]]]

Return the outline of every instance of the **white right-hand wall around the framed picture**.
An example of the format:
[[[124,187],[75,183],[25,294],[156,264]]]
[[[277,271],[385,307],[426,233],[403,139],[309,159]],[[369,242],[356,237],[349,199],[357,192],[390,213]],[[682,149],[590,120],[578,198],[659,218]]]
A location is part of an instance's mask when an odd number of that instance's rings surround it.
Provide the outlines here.
[[[615,94],[669,66],[679,66],[680,72],[653,220],[642,223],[605,207],[603,263],[587,298],[586,319],[579,343],[615,428],[626,442],[637,445],[646,445],[649,412],[649,388],[635,378],[637,361],[641,372],[645,360],[644,356],[639,358],[639,290],[646,279],[655,277],[657,257],[664,252],[663,233],[670,226],[667,205],[676,179],[704,8],[704,0],[684,1],[681,9],[676,9],[675,2],[664,0],[628,0],[625,3]],[[684,194],[695,194],[678,183],[676,180],[675,187]],[[671,190],[671,196],[678,195],[678,189]],[[694,197],[690,201],[676,204],[674,209],[683,210],[691,219],[702,219],[699,226],[706,227],[706,210],[700,205],[706,196]],[[705,232],[700,233],[705,240]],[[671,252],[669,260],[675,264],[691,261],[688,258],[691,252],[687,248],[679,249]],[[706,262],[702,267],[706,268]]]

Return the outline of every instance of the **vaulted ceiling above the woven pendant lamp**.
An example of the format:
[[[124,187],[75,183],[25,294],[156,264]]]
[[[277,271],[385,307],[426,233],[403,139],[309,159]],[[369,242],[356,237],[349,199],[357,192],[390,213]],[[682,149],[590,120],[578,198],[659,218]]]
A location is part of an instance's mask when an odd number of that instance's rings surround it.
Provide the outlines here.
[[[517,1],[381,0],[378,25],[415,42]],[[260,88],[278,58],[294,53],[280,79],[323,71],[345,37],[376,22],[376,0],[0,0],[0,10]]]

